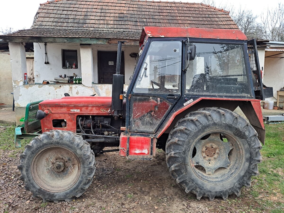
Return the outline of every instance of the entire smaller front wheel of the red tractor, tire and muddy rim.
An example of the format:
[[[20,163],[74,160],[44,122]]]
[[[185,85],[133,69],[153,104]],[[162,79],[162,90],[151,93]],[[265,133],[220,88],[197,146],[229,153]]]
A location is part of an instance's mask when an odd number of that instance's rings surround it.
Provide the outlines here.
[[[71,201],[89,187],[95,173],[90,145],[70,131],[52,130],[35,137],[20,155],[20,179],[34,197]]]

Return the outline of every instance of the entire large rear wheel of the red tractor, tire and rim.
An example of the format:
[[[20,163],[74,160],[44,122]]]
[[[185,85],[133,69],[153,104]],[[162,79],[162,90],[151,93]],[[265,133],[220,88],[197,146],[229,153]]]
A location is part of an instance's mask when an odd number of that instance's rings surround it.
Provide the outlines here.
[[[179,120],[166,143],[170,173],[197,199],[241,194],[258,174],[262,145],[254,128],[224,108],[201,108]]]

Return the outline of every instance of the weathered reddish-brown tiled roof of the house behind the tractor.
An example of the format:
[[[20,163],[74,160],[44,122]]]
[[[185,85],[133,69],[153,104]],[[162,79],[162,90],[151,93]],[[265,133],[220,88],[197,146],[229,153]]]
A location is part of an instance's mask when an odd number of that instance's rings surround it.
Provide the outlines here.
[[[238,29],[228,11],[200,3],[53,0],[41,4],[31,29],[10,36],[139,39],[144,26]]]

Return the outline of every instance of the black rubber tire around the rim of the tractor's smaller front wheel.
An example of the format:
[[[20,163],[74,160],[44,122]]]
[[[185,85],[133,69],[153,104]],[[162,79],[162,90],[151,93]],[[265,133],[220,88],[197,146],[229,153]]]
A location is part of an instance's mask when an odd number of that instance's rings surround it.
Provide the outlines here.
[[[60,146],[73,152],[80,162],[80,176],[76,183],[68,190],[62,192],[49,192],[37,185],[32,178],[31,162],[42,149],[51,146]],[[46,201],[71,201],[80,197],[89,187],[95,173],[95,156],[89,143],[83,140],[79,135],[70,131],[52,130],[44,132],[26,145],[23,154],[20,154],[20,165],[18,169],[21,172],[20,179],[25,183],[25,189],[33,193],[33,197],[41,198]],[[56,184],[54,185],[56,187]]]

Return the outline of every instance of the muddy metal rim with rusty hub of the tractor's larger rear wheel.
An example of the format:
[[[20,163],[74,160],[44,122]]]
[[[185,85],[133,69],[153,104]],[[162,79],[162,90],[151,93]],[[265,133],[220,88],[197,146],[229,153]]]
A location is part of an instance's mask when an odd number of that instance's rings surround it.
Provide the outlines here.
[[[190,153],[193,172],[208,183],[228,181],[238,174],[244,162],[241,142],[227,131],[210,131],[202,135]]]

